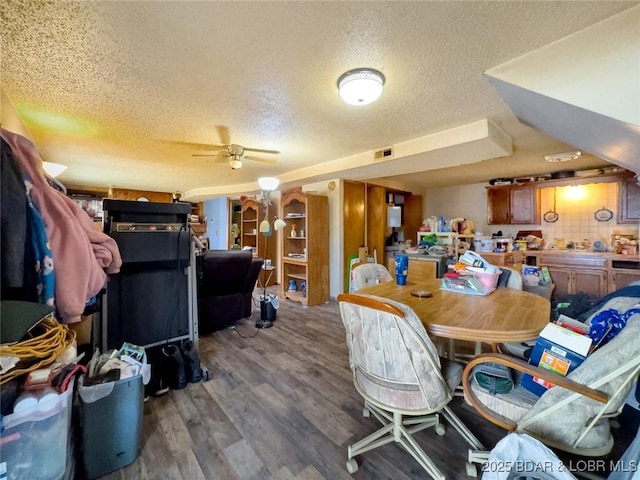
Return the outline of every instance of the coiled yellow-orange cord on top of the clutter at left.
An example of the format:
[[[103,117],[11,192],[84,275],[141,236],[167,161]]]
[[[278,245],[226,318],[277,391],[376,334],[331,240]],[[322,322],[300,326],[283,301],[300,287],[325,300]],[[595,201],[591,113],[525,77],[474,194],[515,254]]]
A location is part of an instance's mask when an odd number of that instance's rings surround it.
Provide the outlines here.
[[[0,355],[20,359],[13,369],[0,374],[0,385],[53,363],[76,339],[76,332],[59,323],[53,316],[42,320],[34,331],[42,333],[13,345],[0,345]]]

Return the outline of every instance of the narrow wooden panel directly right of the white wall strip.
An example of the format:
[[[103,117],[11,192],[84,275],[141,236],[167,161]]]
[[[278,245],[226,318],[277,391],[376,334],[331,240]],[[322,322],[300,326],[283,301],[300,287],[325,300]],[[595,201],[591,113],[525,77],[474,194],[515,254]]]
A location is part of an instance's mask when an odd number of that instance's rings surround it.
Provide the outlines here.
[[[345,181],[343,187],[343,265],[344,279],[342,291],[349,285],[349,256],[358,254],[365,244],[365,185],[360,182]]]

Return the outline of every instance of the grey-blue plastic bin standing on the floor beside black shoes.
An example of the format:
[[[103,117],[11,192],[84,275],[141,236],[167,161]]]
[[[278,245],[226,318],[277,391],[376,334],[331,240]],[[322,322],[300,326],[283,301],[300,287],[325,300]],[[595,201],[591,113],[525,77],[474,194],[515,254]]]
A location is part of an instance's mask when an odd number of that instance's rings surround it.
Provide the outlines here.
[[[82,460],[87,478],[118,470],[138,458],[142,432],[142,375],[100,385],[78,384]]]

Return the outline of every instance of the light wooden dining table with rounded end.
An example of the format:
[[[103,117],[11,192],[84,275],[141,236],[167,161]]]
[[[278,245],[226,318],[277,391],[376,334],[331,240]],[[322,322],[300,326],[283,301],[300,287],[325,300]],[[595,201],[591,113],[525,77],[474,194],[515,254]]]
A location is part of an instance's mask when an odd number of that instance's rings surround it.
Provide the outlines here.
[[[546,298],[513,288],[499,287],[487,295],[469,295],[440,289],[440,279],[381,282],[358,290],[411,307],[434,336],[472,342],[510,343],[538,337],[549,322]],[[428,291],[416,297],[412,291]]]

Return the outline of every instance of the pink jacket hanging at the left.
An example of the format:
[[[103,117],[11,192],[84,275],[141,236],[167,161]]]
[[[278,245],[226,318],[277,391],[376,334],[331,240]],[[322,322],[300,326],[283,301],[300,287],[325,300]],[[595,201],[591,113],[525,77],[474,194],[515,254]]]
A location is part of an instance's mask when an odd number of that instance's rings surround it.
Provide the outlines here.
[[[105,285],[107,273],[122,265],[115,240],[96,230],[93,220],[62,192],[51,187],[42,158],[25,137],[0,128],[16,164],[31,181],[31,200],[40,211],[51,244],[55,272],[55,303],[64,323],[80,321],[87,300]]]

